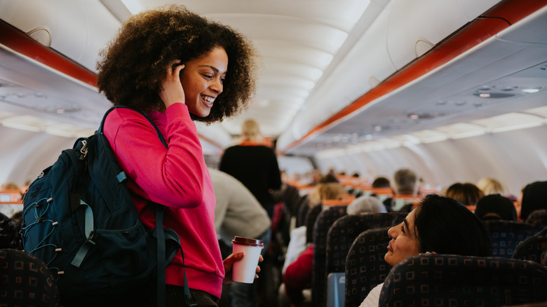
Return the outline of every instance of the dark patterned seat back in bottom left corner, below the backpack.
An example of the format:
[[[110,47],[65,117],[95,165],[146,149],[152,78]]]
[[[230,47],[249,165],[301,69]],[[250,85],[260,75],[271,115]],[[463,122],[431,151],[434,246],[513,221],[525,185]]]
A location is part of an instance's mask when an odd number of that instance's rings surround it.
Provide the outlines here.
[[[60,306],[46,264],[22,250],[0,250],[0,306]]]

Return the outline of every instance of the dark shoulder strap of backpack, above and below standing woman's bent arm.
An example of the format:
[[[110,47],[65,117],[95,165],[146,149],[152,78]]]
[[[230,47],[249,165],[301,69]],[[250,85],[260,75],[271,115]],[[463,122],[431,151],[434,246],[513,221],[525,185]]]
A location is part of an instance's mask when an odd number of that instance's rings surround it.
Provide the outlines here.
[[[142,112],[140,110],[137,110],[137,109],[134,109],[132,107],[117,105],[117,106],[114,106],[114,107],[111,107],[110,109],[108,109],[108,111],[102,117],[101,125],[100,125],[99,130],[98,130],[99,133],[102,133],[102,131],[103,131],[104,121],[106,120],[107,115],[110,113],[110,111],[112,111],[114,109],[117,109],[117,108],[131,109],[131,110],[136,111],[137,113],[141,114],[142,116],[144,116],[144,118],[147,118],[149,123],[151,123],[152,127],[154,127],[154,129],[156,130],[156,133],[158,134],[158,137],[161,140],[161,142],[163,143],[163,145],[166,146],[166,148],[168,147],[166,139],[163,138],[163,135],[161,134],[160,130],[158,129],[158,127],[156,126],[154,121],[152,121],[150,116],[148,116],[144,112]],[[157,294],[156,294],[157,306],[158,307],[166,306],[166,266],[167,266],[167,264],[166,264],[166,238],[167,238],[167,240],[170,240],[170,241],[173,241],[173,242],[177,243],[177,246],[179,247],[179,250],[180,250],[180,254],[182,256],[182,277],[184,278],[184,299],[186,300],[188,306],[197,307],[198,304],[196,303],[196,299],[194,299],[194,297],[191,295],[190,288],[188,287],[188,280],[186,278],[186,266],[184,265],[184,253],[182,252],[182,246],[180,245],[180,238],[177,235],[177,233],[175,233],[175,231],[173,231],[172,229],[170,229],[170,228],[164,229],[163,228],[163,211],[165,210],[166,206],[160,205],[160,204],[154,203],[154,202],[149,202],[149,203],[151,203],[152,205],[154,205],[156,207],[156,228],[154,228],[154,236],[156,236],[156,242],[157,242],[157,247],[158,247],[158,249],[157,249],[157,261],[158,261],[157,276],[158,276],[158,280],[156,282],[156,285],[157,285]],[[172,257],[174,257],[174,256],[175,256],[175,254],[170,255],[169,259],[172,259]]]

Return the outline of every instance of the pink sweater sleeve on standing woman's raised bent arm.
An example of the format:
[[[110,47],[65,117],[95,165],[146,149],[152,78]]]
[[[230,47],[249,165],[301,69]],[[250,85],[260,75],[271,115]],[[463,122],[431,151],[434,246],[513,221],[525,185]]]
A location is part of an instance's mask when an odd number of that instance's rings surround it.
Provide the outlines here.
[[[147,119],[130,109],[112,111],[104,133],[120,166],[128,172],[133,192],[169,207],[203,203],[204,181],[209,175],[186,104],[173,104],[166,110],[168,148]]]

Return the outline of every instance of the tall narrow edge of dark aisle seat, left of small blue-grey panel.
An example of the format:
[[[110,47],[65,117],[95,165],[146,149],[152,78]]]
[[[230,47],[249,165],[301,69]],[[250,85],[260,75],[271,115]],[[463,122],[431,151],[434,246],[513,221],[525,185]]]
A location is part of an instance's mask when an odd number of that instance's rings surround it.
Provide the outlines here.
[[[313,226],[313,280],[311,287],[312,306],[326,306],[327,275],[325,263],[327,253],[327,232],[337,219],[346,215],[347,206],[330,207],[322,211]]]

